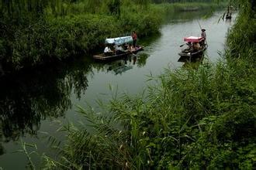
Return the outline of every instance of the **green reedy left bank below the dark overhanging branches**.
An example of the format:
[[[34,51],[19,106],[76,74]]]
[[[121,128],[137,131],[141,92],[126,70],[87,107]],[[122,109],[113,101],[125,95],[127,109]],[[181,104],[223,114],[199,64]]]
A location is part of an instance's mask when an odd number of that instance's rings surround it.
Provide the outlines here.
[[[119,14],[112,14],[103,7],[97,13],[88,12],[82,3],[62,6],[61,12],[46,8],[43,16],[36,19],[26,14],[29,17],[23,19],[26,16],[22,16],[22,22],[18,22],[18,25],[8,19],[8,15],[2,14],[0,60],[3,73],[102,49],[107,37],[123,36],[132,30],[137,31],[139,38],[152,35],[158,32],[166,12],[187,7],[217,7],[208,3],[175,3],[151,4],[142,8],[140,5],[125,3],[120,6]]]

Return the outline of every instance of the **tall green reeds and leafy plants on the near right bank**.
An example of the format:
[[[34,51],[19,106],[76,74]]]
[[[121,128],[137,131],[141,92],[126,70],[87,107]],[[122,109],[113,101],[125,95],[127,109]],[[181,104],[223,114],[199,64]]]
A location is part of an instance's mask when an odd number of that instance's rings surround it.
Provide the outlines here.
[[[141,96],[113,95],[87,124],[69,124],[67,142],[46,168],[255,168],[256,22],[250,1],[227,39],[224,59],[196,70],[165,70]],[[88,131],[88,125],[90,131]]]

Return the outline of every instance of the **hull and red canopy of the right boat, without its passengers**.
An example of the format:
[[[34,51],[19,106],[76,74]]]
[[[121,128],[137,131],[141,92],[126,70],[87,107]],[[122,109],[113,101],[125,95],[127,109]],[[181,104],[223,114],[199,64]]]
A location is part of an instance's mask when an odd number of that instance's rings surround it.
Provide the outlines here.
[[[201,45],[201,48],[197,51],[191,51],[190,49],[184,49],[181,53],[178,53],[179,56],[181,56],[178,59],[178,62],[183,61],[193,61],[196,60],[196,58],[199,58],[202,56],[203,52],[207,49],[208,45],[203,41],[204,39],[202,37],[195,37],[195,36],[189,36],[184,39],[185,42],[199,42],[199,44],[203,43]]]

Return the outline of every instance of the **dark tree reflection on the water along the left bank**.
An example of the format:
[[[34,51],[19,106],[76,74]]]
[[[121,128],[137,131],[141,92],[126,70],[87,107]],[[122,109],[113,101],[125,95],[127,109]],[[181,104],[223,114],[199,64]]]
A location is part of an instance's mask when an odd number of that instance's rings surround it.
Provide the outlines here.
[[[2,77],[0,142],[17,141],[25,134],[36,136],[41,120],[63,117],[72,107],[72,90],[79,98],[87,89],[86,75],[90,70],[92,67],[85,63],[80,66],[61,64]],[[3,154],[1,145],[0,154]]]

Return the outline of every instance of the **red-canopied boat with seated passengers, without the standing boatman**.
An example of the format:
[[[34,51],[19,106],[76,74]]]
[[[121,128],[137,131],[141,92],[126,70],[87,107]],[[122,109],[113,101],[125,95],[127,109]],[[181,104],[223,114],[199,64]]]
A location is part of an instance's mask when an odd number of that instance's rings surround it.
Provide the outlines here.
[[[191,61],[193,59],[196,59],[197,57],[202,56],[203,52],[208,47],[207,43],[205,42],[205,39],[202,36],[185,37],[184,41],[186,42],[184,45],[187,45],[188,47],[186,49],[182,49],[181,53],[178,53],[178,55],[181,56],[181,58],[178,59],[178,61],[184,59],[189,59]]]

